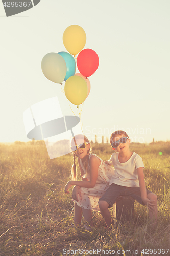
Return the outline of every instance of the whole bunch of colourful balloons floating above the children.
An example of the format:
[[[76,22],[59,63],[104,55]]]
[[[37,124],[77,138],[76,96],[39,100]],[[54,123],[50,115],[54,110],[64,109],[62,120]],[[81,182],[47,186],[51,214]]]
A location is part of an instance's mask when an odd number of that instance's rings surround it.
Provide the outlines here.
[[[41,62],[42,72],[52,82],[65,81],[65,96],[72,104],[79,106],[90,93],[90,81],[87,77],[98,69],[99,57],[92,49],[82,50],[86,44],[86,33],[78,25],[66,28],[63,33],[63,44],[69,53],[47,53]],[[76,54],[80,73],[75,74]]]

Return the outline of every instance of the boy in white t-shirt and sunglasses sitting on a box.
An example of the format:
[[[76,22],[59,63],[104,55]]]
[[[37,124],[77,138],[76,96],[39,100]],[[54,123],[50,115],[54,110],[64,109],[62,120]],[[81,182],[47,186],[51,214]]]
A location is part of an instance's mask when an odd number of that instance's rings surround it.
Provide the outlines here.
[[[114,165],[115,173],[112,176],[109,188],[99,200],[101,214],[107,228],[111,226],[110,208],[118,196],[131,196],[140,204],[147,205],[149,217],[155,226],[157,221],[157,196],[146,189],[144,181],[144,164],[141,157],[129,150],[130,139],[126,132],[115,131],[110,136],[110,144],[117,151],[105,161]]]

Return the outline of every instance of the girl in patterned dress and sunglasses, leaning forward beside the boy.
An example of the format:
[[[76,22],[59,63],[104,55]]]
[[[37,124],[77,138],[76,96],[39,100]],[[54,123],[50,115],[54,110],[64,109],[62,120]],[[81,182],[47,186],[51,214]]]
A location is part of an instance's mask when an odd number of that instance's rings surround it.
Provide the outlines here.
[[[114,168],[104,163],[98,156],[91,154],[91,145],[85,135],[79,134],[70,141],[73,152],[74,164],[72,165],[72,180],[67,182],[65,193],[69,193],[71,186],[76,186],[73,191],[73,201],[75,202],[75,225],[81,223],[82,212],[84,219],[93,226],[91,210],[100,211],[98,201],[105,194]],[[76,180],[76,157],[81,172],[82,181]],[[88,227],[86,226],[88,229]]]

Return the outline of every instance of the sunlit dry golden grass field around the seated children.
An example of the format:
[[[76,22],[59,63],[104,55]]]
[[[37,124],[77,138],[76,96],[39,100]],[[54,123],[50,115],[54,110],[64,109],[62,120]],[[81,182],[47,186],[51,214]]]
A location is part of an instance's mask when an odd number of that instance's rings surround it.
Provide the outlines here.
[[[0,144],[0,255],[66,255],[64,248],[70,250],[69,255],[78,249],[98,249],[98,255],[99,249],[131,250],[126,255],[139,249],[141,255],[142,249],[170,248],[170,143],[132,143],[131,150],[142,157],[147,187],[158,196],[155,231],[151,229],[147,208],[138,203],[134,221],[117,221],[110,231],[105,231],[100,212],[93,212],[92,232],[84,229],[84,220],[75,227],[71,193],[65,195],[63,191],[69,180],[72,156],[50,160],[43,142]],[[92,145],[92,153],[103,160],[109,159],[112,152],[109,144]],[[166,252],[153,255],[170,255],[170,250]]]

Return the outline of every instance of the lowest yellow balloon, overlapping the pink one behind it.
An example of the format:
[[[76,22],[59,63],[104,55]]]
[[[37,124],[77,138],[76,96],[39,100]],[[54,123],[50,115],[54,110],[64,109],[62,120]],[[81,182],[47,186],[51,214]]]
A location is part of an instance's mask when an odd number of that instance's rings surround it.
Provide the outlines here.
[[[87,97],[87,83],[80,76],[70,76],[65,82],[64,91],[72,104],[80,105]]]

